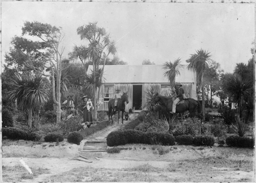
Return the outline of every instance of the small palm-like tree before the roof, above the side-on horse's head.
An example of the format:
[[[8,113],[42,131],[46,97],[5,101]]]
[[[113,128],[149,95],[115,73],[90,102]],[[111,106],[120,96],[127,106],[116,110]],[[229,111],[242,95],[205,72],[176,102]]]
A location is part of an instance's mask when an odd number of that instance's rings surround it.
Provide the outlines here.
[[[173,63],[169,61],[163,64],[163,69],[165,70],[164,76],[169,79],[171,88],[175,86],[175,77],[178,74],[180,75],[180,69],[183,66],[184,65],[181,64],[180,58],[175,59]]]

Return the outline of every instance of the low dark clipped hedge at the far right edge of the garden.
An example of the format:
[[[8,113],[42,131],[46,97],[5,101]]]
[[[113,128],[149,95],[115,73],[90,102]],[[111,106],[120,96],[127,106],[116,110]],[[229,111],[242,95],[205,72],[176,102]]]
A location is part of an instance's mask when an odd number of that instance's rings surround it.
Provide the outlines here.
[[[231,135],[226,138],[226,144],[234,147],[248,147],[253,148],[254,138],[240,137],[237,135]]]

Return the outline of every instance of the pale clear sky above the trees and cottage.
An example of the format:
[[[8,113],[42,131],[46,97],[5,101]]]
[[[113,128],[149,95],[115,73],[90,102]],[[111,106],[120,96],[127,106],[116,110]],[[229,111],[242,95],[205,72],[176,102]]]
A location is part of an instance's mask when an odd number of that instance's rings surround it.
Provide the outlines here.
[[[254,3],[2,2],[2,60],[25,21],[62,27],[64,57],[84,45],[79,26],[98,22],[115,40],[120,60],[141,65],[185,63],[196,50],[211,52],[224,72],[248,63],[255,37]]]

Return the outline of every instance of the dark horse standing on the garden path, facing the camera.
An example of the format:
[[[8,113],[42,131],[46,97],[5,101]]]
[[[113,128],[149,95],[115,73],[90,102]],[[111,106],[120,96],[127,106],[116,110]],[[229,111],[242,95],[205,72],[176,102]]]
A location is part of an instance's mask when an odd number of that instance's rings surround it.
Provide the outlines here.
[[[129,103],[128,101],[128,92],[123,93],[122,97],[117,101],[117,111],[118,111],[118,121],[117,123],[119,123],[119,118],[120,118],[120,111],[122,111],[122,124],[123,124],[123,113],[125,112],[125,103]],[[111,120],[113,123],[113,114],[115,114],[116,112],[114,111],[115,109],[115,99],[111,99],[108,101],[108,120],[109,117],[111,116]]]

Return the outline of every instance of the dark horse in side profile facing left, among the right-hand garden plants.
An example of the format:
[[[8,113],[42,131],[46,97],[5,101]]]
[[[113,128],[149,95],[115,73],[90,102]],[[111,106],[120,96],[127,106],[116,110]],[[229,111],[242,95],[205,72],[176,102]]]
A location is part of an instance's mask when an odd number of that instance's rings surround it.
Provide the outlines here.
[[[168,112],[172,111],[172,98],[167,97],[167,96],[162,96],[156,93],[153,96],[153,102],[151,105],[155,105],[155,103],[160,102],[161,105],[166,107],[166,110]],[[179,103],[178,103],[179,104]],[[176,106],[176,113],[183,113],[185,111],[189,111],[189,117],[194,117],[195,116],[195,111],[197,108],[197,112],[201,113],[201,105],[200,102],[197,100],[194,100],[193,98],[186,98],[184,103],[181,103]]]

